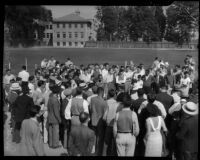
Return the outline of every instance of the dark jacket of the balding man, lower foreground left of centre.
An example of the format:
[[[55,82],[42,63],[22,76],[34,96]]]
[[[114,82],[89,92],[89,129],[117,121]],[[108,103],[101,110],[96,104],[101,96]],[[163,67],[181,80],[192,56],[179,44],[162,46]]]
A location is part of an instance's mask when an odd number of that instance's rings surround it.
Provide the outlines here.
[[[73,127],[69,135],[69,151],[72,156],[90,156],[95,144],[94,131],[87,126]]]

